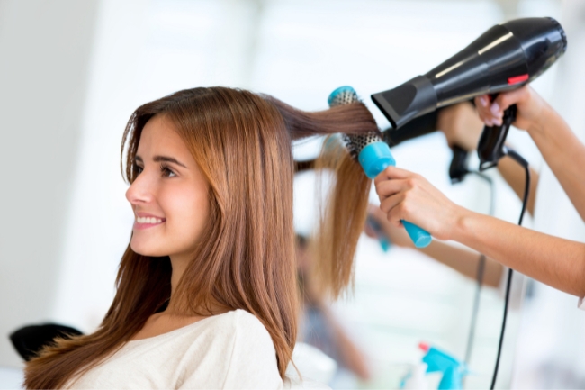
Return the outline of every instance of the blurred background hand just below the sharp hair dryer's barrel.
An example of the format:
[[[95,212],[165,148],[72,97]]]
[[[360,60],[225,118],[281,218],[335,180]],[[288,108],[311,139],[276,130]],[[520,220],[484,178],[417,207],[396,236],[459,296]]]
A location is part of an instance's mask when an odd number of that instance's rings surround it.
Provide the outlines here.
[[[449,148],[457,145],[471,151],[477,148],[483,122],[473,104],[463,102],[450,105],[438,112],[437,129],[445,133]]]

